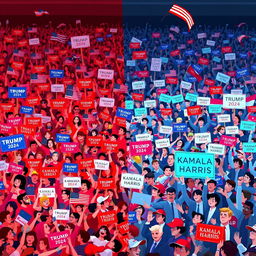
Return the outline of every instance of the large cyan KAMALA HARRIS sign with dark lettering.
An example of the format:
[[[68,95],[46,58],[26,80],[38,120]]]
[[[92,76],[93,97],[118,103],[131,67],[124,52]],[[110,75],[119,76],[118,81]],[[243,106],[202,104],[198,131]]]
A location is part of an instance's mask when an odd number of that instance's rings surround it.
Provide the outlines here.
[[[214,154],[175,152],[175,175],[185,178],[215,178]]]

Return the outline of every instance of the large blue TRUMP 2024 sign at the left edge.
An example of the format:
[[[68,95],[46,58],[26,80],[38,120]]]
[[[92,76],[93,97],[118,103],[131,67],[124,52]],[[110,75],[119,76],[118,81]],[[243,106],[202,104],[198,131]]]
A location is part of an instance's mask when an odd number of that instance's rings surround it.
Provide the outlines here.
[[[0,138],[0,147],[2,152],[10,152],[26,148],[25,137],[23,134],[17,134]]]

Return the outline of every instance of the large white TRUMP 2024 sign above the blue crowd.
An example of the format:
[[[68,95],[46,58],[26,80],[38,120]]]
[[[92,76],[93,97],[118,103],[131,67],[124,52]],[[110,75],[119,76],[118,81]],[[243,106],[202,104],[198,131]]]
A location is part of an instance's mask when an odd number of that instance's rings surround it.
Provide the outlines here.
[[[246,108],[246,95],[223,94],[223,108],[245,109]]]

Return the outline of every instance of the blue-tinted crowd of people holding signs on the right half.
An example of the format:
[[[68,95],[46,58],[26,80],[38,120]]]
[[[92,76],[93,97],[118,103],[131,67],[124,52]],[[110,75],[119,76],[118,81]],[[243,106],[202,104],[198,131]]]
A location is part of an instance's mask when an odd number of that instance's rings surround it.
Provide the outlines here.
[[[144,178],[129,194],[130,255],[256,255],[255,29],[146,24],[124,34],[130,143],[152,142],[128,163]],[[214,176],[176,175],[180,152],[214,154]]]

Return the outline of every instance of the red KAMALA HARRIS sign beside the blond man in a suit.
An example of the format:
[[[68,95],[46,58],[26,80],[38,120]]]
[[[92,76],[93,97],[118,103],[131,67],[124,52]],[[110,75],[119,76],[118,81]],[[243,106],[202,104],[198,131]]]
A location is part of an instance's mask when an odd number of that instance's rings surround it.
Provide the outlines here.
[[[199,223],[196,227],[195,239],[218,244],[225,241],[225,227]]]

